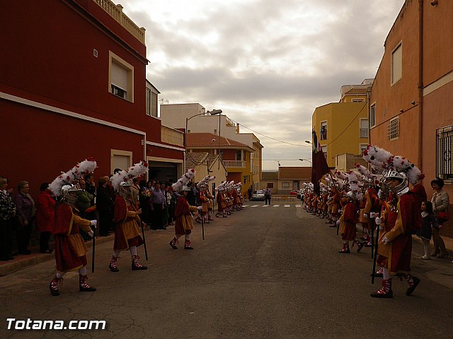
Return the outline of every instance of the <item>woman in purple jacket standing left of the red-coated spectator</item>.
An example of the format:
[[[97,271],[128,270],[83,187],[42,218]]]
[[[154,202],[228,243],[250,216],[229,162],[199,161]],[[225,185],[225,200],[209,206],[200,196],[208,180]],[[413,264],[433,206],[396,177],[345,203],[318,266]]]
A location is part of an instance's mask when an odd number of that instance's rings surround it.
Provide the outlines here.
[[[30,242],[30,234],[32,222],[35,220],[35,201],[30,196],[30,186],[28,182],[19,182],[17,184],[18,194],[15,199],[18,225],[16,230],[18,254],[28,255],[31,252],[28,250]]]

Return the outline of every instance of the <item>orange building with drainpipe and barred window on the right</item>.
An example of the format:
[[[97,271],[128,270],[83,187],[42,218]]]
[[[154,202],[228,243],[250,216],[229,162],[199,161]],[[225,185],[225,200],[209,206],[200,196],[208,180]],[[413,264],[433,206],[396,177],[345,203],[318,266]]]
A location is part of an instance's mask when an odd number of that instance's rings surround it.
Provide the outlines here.
[[[453,1],[406,0],[372,86],[371,143],[445,180],[453,201]],[[450,230],[449,230],[450,229]],[[452,227],[445,227],[452,236]]]

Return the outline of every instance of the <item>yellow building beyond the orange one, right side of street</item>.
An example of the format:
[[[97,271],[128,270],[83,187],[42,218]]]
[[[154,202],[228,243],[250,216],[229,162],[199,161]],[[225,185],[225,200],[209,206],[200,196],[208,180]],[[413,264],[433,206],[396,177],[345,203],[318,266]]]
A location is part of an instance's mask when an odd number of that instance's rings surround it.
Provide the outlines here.
[[[316,107],[311,126],[329,167],[337,167],[337,155],[361,155],[369,143],[368,97],[372,80],[344,85],[340,102]]]

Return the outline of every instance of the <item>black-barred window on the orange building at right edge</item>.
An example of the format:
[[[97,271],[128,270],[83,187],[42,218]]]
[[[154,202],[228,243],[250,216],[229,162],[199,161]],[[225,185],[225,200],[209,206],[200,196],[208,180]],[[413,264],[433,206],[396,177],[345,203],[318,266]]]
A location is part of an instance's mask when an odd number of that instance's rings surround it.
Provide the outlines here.
[[[453,184],[453,126],[438,129],[436,138],[436,176],[444,179],[445,184]]]

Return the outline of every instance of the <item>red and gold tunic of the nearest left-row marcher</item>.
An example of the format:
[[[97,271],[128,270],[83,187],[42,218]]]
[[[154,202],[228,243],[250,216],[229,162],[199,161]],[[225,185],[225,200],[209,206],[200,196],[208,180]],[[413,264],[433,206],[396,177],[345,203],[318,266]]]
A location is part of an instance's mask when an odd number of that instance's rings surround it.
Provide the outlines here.
[[[82,219],[79,210],[71,208],[67,203],[58,203],[55,207],[52,234],[55,239],[55,261],[57,272],[79,270],[86,266],[86,244],[80,230],[91,232],[90,220]]]

